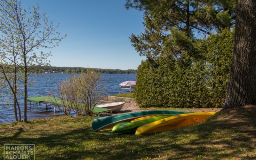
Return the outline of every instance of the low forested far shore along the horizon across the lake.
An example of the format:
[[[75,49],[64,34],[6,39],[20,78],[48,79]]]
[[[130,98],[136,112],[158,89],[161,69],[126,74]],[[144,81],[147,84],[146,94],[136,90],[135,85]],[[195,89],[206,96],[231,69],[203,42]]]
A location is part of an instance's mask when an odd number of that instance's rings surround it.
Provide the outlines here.
[[[121,70],[121,69],[101,69],[101,68],[83,68],[83,67],[53,67],[53,66],[37,66],[37,71],[34,73],[81,73],[86,72],[88,69],[96,73],[119,73],[119,74],[135,74],[137,73],[137,69],[128,69],[128,70]]]

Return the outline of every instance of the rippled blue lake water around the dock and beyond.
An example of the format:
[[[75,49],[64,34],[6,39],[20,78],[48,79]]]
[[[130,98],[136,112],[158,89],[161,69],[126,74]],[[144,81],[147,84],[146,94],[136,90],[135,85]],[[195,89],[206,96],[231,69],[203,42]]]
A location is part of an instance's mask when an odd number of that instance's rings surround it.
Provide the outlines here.
[[[31,75],[31,79],[35,78],[34,84],[28,87],[28,97],[38,97],[48,95],[49,92],[57,92],[57,83],[68,76],[73,76],[74,74],[43,74],[41,75]],[[129,93],[127,91],[119,90],[119,84],[124,81],[132,80],[136,81],[136,74],[102,74],[102,79],[105,84],[105,92],[107,95],[114,94],[124,94]],[[4,99],[11,99],[11,95],[7,94],[7,91],[2,91],[4,97],[0,99],[0,123],[11,123],[15,122],[13,105],[8,104]],[[12,101],[11,101],[12,102]],[[23,119],[23,105],[24,102],[20,100],[21,107],[21,119]],[[56,108],[57,109],[57,108]],[[38,119],[52,116],[61,116],[62,113],[57,110],[56,113],[53,112],[52,106],[47,106],[45,104],[32,104],[31,107],[28,103],[27,116],[28,119]]]

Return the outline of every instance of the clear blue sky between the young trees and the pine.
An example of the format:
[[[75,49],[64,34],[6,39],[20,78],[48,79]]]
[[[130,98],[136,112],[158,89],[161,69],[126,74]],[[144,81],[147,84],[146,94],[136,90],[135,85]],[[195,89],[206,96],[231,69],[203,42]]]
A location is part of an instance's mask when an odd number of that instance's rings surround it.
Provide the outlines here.
[[[137,69],[145,59],[129,39],[143,32],[143,13],[126,10],[125,0],[21,1],[24,9],[36,2],[50,20],[60,23],[57,31],[68,35],[50,49],[52,66]]]

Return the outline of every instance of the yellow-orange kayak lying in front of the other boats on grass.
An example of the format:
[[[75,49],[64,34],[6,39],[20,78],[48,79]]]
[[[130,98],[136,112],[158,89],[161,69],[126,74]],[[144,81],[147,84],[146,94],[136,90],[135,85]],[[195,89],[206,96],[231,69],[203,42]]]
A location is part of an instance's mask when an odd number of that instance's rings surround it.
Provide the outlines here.
[[[185,113],[175,116],[170,116],[137,128],[135,134],[148,134],[156,132],[164,132],[175,128],[186,127],[189,125],[203,122],[210,116],[214,115],[215,112],[196,112],[196,113]]]

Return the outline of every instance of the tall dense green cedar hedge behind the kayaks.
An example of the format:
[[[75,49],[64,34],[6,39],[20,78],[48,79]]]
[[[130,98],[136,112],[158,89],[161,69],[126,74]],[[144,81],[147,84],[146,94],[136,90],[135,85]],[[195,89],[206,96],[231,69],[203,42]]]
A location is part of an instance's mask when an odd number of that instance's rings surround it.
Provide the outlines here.
[[[220,34],[197,40],[192,44],[193,52],[181,52],[182,58],[164,53],[154,63],[142,61],[134,88],[135,100],[141,107],[222,107],[233,37],[234,31],[224,29]]]

